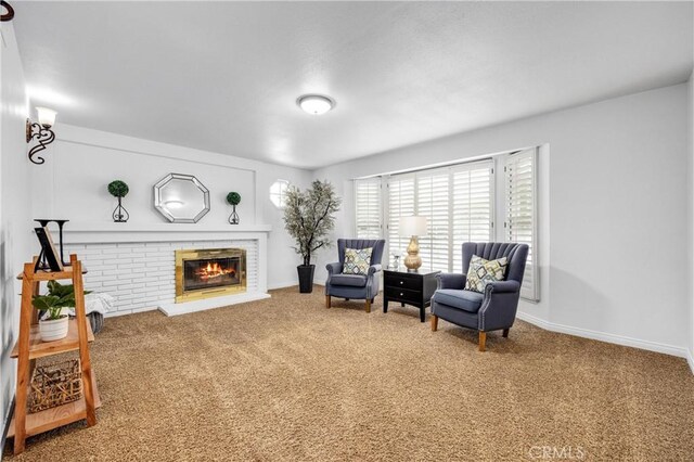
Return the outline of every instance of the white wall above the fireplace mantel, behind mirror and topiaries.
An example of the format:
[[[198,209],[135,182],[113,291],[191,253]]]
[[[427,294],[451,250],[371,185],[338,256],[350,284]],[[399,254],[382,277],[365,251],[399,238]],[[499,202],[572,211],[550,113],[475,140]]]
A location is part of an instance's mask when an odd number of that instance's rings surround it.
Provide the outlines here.
[[[60,114],[59,114],[60,117]],[[68,227],[82,223],[111,223],[116,206],[106,185],[125,180],[130,192],[124,206],[130,213],[124,230],[167,223],[153,204],[153,185],[170,172],[195,175],[210,191],[210,211],[195,230],[231,229],[227,219],[231,206],[229,191],[242,195],[236,211],[241,224],[271,224],[268,238],[268,286],[296,284],[296,265],[292,241],[284,230],[282,210],[269,200],[277,179],[306,188],[311,174],[292,167],[266,164],[224,154],[158,143],[68,125],[55,126],[57,141],[46,154],[46,164],[35,169],[35,216],[66,218]]]

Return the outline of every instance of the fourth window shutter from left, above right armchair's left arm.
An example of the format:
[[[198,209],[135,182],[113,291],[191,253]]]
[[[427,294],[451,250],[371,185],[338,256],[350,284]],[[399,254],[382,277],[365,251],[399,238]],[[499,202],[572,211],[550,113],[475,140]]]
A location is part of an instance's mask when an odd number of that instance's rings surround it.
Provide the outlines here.
[[[462,267],[463,243],[493,241],[493,162],[455,166],[451,177],[452,270],[462,273],[467,272]]]

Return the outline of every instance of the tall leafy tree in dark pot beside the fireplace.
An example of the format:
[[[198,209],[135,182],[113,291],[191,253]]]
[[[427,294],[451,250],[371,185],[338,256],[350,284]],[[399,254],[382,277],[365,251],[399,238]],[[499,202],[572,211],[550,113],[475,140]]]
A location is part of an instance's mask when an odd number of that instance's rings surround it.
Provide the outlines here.
[[[316,180],[306,191],[292,188],[286,193],[284,228],[294,238],[294,249],[304,259],[304,264],[296,267],[303,294],[313,291],[316,265],[311,265],[311,256],[319,248],[332,244],[327,234],[335,228],[333,214],[339,210],[340,203],[327,181]]]

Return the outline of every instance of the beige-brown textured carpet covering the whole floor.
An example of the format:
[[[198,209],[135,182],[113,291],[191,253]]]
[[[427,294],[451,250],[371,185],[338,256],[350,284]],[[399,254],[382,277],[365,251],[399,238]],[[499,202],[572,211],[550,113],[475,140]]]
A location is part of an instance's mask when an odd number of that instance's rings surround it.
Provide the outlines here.
[[[518,321],[510,338],[321,287],[195,315],[106,320],[97,426],[9,460],[694,460],[684,360]],[[427,317],[428,320],[428,317]],[[563,451],[563,452],[562,452]],[[544,459],[547,460],[547,458]]]

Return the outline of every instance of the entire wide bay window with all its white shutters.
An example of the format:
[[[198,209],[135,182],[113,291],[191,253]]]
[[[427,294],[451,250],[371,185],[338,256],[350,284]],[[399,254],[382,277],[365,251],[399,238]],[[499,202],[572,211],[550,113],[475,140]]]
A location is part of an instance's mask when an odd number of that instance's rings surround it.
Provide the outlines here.
[[[496,165],[500,168],[494,168]],[[520,296],[539,300],[537,149],[493,158],[355,181],[357,236],[384,235],[387,254],[407,255],[400,217],[425,216],[420,236],[422,270],[464,272],[465,242],[518,242],[529,253]],[[384,188],[382,189],[381,184]],[[496,184],[499,184],[498,194]],[[503,226],[494,227],[494,221]]]

